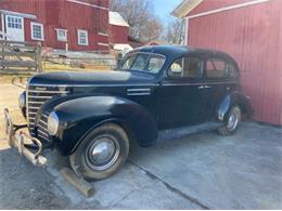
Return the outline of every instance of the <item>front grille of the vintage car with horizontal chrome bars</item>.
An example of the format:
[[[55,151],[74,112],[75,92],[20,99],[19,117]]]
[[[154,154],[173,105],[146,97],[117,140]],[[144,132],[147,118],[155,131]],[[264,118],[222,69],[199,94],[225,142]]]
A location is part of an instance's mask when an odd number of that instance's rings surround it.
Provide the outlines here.
[[[35,85],[28,84],[27,88],[27,120],[29,133],[31,136],[36,134],[48,141],[48,131],[47,131],[47,119],[48,113],[41,115],[38,121],[38,128],[36,128],[36,116],[39,108],[52,97],[57,95],[66,95],[69,93],[67,87],[47,87],[47,85]]]

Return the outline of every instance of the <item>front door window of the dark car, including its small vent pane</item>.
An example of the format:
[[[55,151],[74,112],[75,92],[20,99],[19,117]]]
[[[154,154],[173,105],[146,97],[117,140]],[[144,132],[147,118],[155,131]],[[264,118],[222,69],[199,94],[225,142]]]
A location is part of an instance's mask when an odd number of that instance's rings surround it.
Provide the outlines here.
[[[200,78],[203,74],[203,62],[197,57],[182,57],[174,62],[168,70],[169,77]]]

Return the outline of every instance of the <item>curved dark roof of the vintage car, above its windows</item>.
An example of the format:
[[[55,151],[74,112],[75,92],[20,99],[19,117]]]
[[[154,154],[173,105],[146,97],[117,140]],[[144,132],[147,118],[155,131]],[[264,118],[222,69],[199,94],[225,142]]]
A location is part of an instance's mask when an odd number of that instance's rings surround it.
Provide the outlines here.
[[[192,48],[189,45],[145,45],[137,48],[133,52],[150,52],[165,55],[166,57],[180,57],[187,54],[203,54],[208,56],[223,57],[226,60],[231,60],[235,62],[230,55],[225,52],[210,50],[210,49],[201,49]]]

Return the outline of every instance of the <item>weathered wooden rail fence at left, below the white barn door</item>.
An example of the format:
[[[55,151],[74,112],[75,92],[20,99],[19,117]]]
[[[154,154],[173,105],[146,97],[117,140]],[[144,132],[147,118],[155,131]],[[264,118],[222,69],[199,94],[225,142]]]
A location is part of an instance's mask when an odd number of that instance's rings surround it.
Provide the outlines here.
[[[42,71],[41,44],[0,40],[0,71]]]

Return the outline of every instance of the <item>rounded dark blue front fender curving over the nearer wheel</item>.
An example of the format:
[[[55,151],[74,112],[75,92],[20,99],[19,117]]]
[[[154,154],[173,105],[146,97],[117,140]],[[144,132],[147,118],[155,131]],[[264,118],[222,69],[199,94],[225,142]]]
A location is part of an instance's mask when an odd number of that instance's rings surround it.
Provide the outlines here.
[[[124,97],[81,96],[60,103],[53,109],[60,119],[54,146],[69,155],[93,128],[107,121],[126,124],[141,146],[152,145],[157,137],[153,116],[141,105]]]

